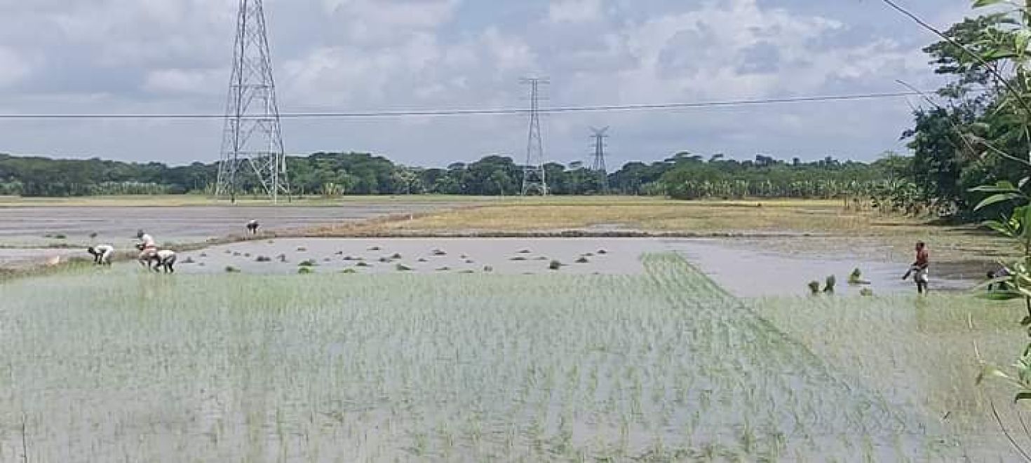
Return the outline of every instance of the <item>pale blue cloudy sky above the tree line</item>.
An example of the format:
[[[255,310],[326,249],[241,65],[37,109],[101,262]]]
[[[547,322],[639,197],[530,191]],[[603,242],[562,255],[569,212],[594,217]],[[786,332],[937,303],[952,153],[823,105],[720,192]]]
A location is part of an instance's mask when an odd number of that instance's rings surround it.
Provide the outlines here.
[[[969,0],[898,0],[947,28]],[[0,114],[225,112],[239,0],[0,0]],[[665,104],[936,88],[934,36],[878,0],[265,0],[282,112]],[[873,161],[919,99],[547,114],[547,161],[674,152]],[[187,164],[223,122],[0,120],[0,152]],[[286,150],[526,158],[525,115],[287,119]]]

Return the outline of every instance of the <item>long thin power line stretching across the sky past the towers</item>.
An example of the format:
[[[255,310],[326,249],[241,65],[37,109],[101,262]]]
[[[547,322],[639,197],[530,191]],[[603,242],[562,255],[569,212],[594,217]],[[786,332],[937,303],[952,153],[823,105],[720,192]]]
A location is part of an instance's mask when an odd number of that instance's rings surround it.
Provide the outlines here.
[[[890,92],[880,94],[828,95],[813,97],[767,98],[759,100],[727,100],[691,103],[632,104],[632,105],[600,105],[600,106],[558,106],[539,108],[539,113],[574,113],[574,112],[609,112],[609,111],[658,111],[670,109],[697,109],[736,106],[760,106],[790,103],[830,103],[859,100],[885,100],[893,98],[918,97],[933,91],[921,92]],[[526,108],[486,108],[486,109],[415,109],[415,110],[383,110],[356,112],[284,112],[279,118],[310,119],[310,118],[389,118],[411,116],[463,116],[463,115],[505,115],[529,114]],[[0,114],[0,119],[223,119],[225,114],[201,113],[167,113],[167,114]]]

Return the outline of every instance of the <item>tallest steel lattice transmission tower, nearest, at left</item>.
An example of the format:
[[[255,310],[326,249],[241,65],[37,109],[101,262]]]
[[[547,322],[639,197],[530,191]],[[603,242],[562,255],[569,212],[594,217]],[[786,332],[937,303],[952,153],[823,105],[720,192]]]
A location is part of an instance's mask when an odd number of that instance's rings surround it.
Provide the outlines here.
[[[290,194],[279,107],[262,0],[239,0],[233,72],[215,195],[236,203],[244,175],[254,175],[272,202]]]

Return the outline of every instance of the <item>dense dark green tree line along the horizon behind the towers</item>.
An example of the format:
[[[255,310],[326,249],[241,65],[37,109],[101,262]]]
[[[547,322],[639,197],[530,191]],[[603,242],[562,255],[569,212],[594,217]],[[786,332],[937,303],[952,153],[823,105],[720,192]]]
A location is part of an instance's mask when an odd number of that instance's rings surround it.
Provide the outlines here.
[[[872,165],[814,163],[757,155],[755,161],[704,159],[680,152],[664,161],[629,163],[605,177],[581,163],[551,163],[544,169],[555,194],[654,194],[701,198],[837,198],[869,193],[897,182],[907,161],[889,156]],[[901,166],[901,167],[900,167]],[[298,194],[478,194],[512,195],[522,188],[523,167],[512,158],[488,155],[446,168],[413,168],[367,153],[318,152],[290,156],[288,171]],[[157,194],[211,192],[214,164],[169,167],[93,159],[49,159],[0,154],[0,194],[74,197],[91,194]],[[259,192],[254,178],[243,176],[244,193]]]

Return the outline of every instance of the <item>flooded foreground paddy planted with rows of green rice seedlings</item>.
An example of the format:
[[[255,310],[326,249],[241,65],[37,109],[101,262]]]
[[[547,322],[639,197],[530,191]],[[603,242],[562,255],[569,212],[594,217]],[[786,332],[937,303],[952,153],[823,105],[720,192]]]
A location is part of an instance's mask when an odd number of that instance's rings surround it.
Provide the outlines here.
[[[677,254],[636,257],[639,268],[612,275],[156,275],[125,264],[9,282],[0,461],[1009,456],[871,378],[885,376],[870,369],[882,362],[839,367],[834,352],[810,351],[788,322],[777,328]],[[786,300],[906,311],[914,298],[899,297]],[[1004,362],[1009,346],[991,336],[1013,314],[996,312],[974,337]],[[854,328],[869,335],[883,320],[865,322]],[[933,336],[956,323],[966,321],[932,315],[925,326]],[[904,346],[906,358],[925,349]],[[968,359],[941,361],[956,372]],[[970,382],[916,384],[941,396]],[[980,391],[964,392],[974,395],[954,416],[974,420]]]

